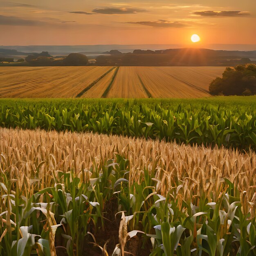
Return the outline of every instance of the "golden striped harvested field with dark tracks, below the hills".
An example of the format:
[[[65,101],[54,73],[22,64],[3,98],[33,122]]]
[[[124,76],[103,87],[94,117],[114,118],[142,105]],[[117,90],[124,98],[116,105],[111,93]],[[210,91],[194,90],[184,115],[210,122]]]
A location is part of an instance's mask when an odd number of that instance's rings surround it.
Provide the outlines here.
[[[1,67],[0,97],[198,98],[225,67]]]

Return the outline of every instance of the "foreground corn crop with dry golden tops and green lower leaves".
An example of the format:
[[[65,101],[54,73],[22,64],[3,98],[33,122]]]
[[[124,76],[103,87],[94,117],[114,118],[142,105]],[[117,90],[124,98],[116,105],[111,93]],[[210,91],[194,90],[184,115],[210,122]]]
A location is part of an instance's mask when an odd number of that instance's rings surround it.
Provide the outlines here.
[[[1,255],[256,253],[253,151],[44,130],[0,137]]]

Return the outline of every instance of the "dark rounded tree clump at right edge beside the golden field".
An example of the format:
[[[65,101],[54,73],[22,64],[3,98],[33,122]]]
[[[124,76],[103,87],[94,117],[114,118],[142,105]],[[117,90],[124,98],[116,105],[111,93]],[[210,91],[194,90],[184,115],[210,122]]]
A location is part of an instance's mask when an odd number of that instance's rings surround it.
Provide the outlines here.
[[[256,94],[256,65],[227,67],[222,78],[217,77],[209,85],[212,95],[252,95]]]

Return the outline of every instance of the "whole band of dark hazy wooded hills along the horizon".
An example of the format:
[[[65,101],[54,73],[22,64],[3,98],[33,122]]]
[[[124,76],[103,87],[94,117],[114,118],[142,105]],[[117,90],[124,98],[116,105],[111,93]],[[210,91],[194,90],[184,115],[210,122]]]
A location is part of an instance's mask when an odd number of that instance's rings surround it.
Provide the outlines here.
[[[81,53],[65,56],[51,56],[49,52],[29,53],[24,62],[13,60],[21,53],[13,49],[0,49],[0,65],[15,66],[63,66],[63,65],[98,65],[98,66],[234,66],[238,64],[256,64],[256,51],[225,51],[197,48],[143,50],[122,53],[117,49],[103,52],[90,61]],[[28,53],[27,53],[28,54]],[[23,56],[22,56],[23,58]],[[17,59],[17,58],[16,58]]]

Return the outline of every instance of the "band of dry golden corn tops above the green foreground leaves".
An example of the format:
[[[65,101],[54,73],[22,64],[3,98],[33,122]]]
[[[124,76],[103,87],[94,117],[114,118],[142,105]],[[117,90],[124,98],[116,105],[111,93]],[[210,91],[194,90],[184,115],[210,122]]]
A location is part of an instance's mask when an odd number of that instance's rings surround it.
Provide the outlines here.
[[[130,161],[131,183],[139,182],[146,168],[161,181],[157,187],[163,195],[172,184],[182,182],[187,188],[193,184],[198,194],[203,186],[204,192],[214,193],[217,200],[226,186],[224,178],[240,191],[246,190],[249,198],[255,192],[256,153],[253,151],[243,154],[223,147],[211,149],[116,135],[6,128],[0,128],[0,138],[2,170],[9,170],[13,179],[18,176],[21,185],[25,177],[37,175],[42,186],[38,189],[51,186],[59,171],[73,170],[79,174],[103,159],[114,159],[120,154]],[[185,200],[186,196],[190,196],[189,190],[184,190]]]

